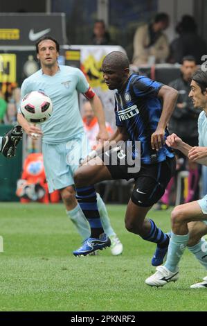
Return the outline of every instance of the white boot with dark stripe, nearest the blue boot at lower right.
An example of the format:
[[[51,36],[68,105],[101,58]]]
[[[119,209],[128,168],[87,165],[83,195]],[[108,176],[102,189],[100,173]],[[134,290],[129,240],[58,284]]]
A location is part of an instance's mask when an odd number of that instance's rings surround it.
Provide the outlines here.
[[[145,283],[150,286],[163,286],[169,282],[175,282],[179,278],[179,270],[177,272],[170,272],[165,266],[158,266],[156,273],[148,277]]]

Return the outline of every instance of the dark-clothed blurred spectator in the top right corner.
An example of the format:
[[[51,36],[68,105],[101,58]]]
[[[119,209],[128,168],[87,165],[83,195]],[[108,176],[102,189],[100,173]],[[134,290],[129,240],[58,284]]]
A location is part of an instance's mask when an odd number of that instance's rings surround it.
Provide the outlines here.
[[[197,24],[192,16],[184,15],[177,24],[179,34],[170,44],[170,62],[182,62],[186,55],[193,55],[197,65],[201,65],[202,55],[207,53],[206,41],[197,34]]]

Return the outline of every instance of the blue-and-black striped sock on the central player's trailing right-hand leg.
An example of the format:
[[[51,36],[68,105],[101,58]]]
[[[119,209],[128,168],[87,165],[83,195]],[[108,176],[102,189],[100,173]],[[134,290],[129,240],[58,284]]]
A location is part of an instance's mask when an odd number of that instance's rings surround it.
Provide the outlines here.
[[[154,221],[149,218],[151,223],[150,233],[147,237],[142,237],[146,241],[155,242],[159,246],[159,248],[168,247],[169,244],[169,236],[168,234],[164,233],[161,229],[156,227]]]

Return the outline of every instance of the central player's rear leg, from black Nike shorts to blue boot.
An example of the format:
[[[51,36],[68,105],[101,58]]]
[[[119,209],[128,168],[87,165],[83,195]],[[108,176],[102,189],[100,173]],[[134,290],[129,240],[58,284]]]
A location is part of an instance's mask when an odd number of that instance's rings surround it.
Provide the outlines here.
[[[152,219],[145,219],[148,210],[163,196],[175,170],[174,158],[158,164],[142,164],[136,178],[125,218],[126,228],[145,241],[157,243],[152,265],[159,266],[168,251],[169,234],[157,228]]]

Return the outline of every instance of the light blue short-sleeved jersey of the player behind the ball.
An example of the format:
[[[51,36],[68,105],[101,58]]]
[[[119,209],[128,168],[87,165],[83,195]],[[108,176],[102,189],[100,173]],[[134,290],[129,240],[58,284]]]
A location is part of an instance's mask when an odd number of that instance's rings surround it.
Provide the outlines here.
[[[78,93],[85,93],[89,83],[80,69],[62,66],[53,76],[42,69],[24,80],[21,98],[32,91],[46,93],[53,102],[53,114],[42,123],[46,144],[60,144],[83,132],[82,117],[78,105]]]

